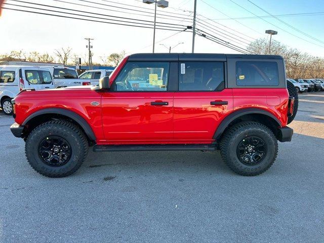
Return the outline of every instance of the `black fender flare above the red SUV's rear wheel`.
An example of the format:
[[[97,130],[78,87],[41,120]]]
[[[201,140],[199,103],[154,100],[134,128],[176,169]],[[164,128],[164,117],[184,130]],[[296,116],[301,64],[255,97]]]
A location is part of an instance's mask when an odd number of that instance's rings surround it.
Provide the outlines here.
[[[275,117],[273,114],[271,114],[269,111],[263,110],[263,109],[258,109],[258,108],[243,108],[243,109],[239,109],[234,111],[233,113],[229,114],[227,117],[225,117],[220,125],[218,126],[218,128],[215,131],[215,134],[213,136],[213,139],[219,139],[223,132],[225,131],[225,129],[228,127],[228,125],[235,120],[236,118],[242,116],[242,115],[248,115],[248,114],[262,114],[262,115],[267,115],[270,118],[272,118],[275,123],[277,124],[278,127],[281,127],[281,123],[278,120],[277,117]]]

